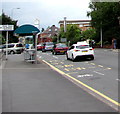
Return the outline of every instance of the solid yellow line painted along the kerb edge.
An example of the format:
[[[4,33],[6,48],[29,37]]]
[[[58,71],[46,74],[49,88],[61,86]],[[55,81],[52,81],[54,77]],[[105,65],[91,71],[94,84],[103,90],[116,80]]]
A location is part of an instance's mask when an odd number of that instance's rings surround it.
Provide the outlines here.
[[[84,87],[86,87],[87,89],[93,91],[94,93],[96,93],[96,94],[98,94],[99,96],[103,97],[104,99],[110,101],[111,103],[113,103],[113,104],[115,104],[115,105],[117,105],[117,106],[120,106],[120,103],[118,103],[117,101],[115,101],[115,100],[111,99],[110,97],[108,97],[108,96],[100,93],[99,91],[97,91],[97,90],[93,89],[92,87],[84,84],[83,82],[77,80],[76,78],[70,76],[69,74],[64,73],[63,71],[61,71],[61,70],[59,70],[58,68],[56,68],[56,67],[54,67],[53,65],[51,65],[50,63],[46,62],[45,60],[42,60],[42,61],[43,61],[44,63],[46,63],[47,65],[49,65],[49,66],[50,66],[51,68],[53,68],[54,70],[56,70],[57,72],[59,72],[60,74],[65,75],[65,76],[71,78],[71,79],[74,80],[75,82],[81,84],[82,86],[84,86]]]

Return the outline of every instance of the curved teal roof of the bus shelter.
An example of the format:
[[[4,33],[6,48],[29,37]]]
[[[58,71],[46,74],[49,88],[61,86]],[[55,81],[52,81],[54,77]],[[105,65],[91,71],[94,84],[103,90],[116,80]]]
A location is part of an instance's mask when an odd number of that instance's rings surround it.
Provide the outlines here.
[[[37,27],[26,24],[26,25],[22,25],[22,26],[18,27],[14,31],[14,34],[19,34],[19,35],[25,36],[25,35],[33,35],[34,33],[39,33],[39,32],[40,32],[40,30]]]

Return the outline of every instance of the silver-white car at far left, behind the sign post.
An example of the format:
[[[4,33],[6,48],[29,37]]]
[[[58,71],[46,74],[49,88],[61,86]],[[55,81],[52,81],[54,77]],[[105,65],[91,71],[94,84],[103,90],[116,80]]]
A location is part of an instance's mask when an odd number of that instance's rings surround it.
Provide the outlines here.
[[[3,52],[6,53],[6,44],[3,45]],[[8,54],[21,54],[24,51],[24,46],[20,43],[8,44]]]

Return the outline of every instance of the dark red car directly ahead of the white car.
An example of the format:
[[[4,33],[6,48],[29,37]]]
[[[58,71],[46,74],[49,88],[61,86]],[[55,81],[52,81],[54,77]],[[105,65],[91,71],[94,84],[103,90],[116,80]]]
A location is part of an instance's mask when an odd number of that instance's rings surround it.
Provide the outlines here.
[[[53,51],[52,51],[52,54],[65,54],[68,50],[68,47],[66,44],[62,44],[62,43],[59,43],[59,44],[55,44],[54,47],[53,47]]]

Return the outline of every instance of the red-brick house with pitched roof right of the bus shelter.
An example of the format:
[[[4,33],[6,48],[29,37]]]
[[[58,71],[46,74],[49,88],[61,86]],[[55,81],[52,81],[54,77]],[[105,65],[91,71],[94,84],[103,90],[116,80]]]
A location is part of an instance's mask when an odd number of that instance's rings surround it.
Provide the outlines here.
[[[45,31],[38,35],[38,43],[52,42],[54,36],[58,36],[60,29],[55,25],[48,27]]]

